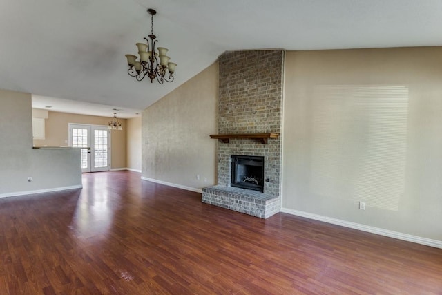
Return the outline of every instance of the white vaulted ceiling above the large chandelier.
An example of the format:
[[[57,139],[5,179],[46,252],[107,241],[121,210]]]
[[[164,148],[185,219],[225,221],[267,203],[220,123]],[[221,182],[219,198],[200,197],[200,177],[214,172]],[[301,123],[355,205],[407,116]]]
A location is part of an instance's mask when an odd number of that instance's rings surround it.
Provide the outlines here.
[[[146,8],[177,63],[172,83],[127,75],[124,55],[151,30]],[[32,93],[35,107],[59,98],[76,101],[65,111],[87,102],[75,110],[131,117],[225,50],[440,46],[442,1],[2,0],[0,44],[0,88]]]

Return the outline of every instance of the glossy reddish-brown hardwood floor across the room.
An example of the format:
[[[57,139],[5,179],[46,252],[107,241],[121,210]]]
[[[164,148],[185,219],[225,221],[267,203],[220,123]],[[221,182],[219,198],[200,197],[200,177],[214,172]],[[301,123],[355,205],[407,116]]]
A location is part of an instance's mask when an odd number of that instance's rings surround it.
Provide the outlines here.
[[[0,199],[0,294],[442,294],[442,249],[140,180]]]

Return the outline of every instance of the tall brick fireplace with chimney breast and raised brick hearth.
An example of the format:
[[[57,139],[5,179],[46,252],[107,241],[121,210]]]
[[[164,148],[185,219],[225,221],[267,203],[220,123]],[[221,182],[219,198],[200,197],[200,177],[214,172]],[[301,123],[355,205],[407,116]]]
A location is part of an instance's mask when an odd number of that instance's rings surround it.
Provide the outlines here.
[[[280,133],[284,50],[229,51],[219,57],[218,133]],[[280,138],[218,143],[218,185],[202,202],[268,218],[280,209]],[[263,157],[263,192],[231,187],[232,155]]]

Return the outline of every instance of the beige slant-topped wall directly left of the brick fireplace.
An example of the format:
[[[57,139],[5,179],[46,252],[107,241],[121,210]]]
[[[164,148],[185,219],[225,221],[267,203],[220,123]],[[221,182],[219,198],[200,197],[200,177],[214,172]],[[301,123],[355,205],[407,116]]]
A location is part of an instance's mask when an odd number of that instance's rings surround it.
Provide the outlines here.
[[[217,108],[218,63],[146,108],[142,176],[195,189],[215,184],[217,142],[209,135],[217,131]]]

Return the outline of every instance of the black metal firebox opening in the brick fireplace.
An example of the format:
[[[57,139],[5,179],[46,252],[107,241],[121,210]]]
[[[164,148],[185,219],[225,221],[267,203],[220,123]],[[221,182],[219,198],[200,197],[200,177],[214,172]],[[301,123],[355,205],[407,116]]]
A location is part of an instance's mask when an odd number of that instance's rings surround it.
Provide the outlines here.
[[[232,155],[231,186],[264,192],[264,157]]]

